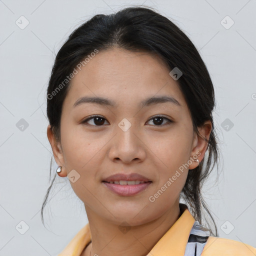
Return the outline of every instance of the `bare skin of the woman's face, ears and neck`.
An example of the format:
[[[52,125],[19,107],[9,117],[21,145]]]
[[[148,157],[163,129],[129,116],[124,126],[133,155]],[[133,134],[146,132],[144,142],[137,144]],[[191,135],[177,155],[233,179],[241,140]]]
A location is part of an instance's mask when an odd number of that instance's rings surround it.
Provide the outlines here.
[[[61,113],[60,141],[47,127],[55,161],[62,166],[59,175],[65,177],[72,169],[80,174],[70,184],[83,201],[90,224],[92,242],[83,256],[146,255],[180,216],[179,194],[197,161],[180,172],[154,202],[148,198],[198,151],[201,162],[207,142],[193,132],[189,109],[169,71],[159,57],[146,52],[99,51],[71,80]],[[107,97],[118,106],[85,103],[72,107],[85,95]],[[138,105],[155,95],[171,95],[181,106],[170,102]],[[82,123],[93,114],[104,119]],[[173,122],[165,125],[163,119],[157,124],[152,120],[155,115]],[[131,123],[126,131],[118,126],[123,118]],[[210,121],[198,129],[209,139]],[[101,183],[118,172],[136,172],[152,183],[136,195],[120,196]],[[118,228],[123,221],[130,226],[126,233]]]

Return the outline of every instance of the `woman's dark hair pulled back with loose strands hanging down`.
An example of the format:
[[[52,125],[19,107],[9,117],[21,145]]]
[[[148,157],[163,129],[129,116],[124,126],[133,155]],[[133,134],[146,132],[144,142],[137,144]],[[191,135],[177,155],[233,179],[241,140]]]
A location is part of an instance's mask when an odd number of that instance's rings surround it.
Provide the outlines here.
[[[218,166],[219,149],[212,118],[215,106],[214,88],[199,52],[185,33],[170,19],[147,6],[131,6],[109,15],[94,15],[76,28],[59,49],[49,78],[47,95],[52,95],[56,87],[88,54],[95,49],[100,51],[112,47],[130,51],[146,51],[161,57],[169,70],[178,67],[182,71],[182,75],[177,83],[188,105],[193,131],[201,136],[197,127],[203,125],[206,120],[211,121],[212,130],[209,140],[204,138],[208,142],[205,156],[199,167],[188,171],[180,198],[187,203],[189,211],[200,223],[203,220],[202,209],[204,208],[214,225],[214,231],[208,220],[205,221],[207,227],[205,225],[204,229],[208,230],[211,235],[218,236],[214,219],[201,195],[203,182],[216,163]],[[69,85],[70,82],[54,96],[47,96],[47,117],[57,141],[60,141],[62,103]],[[207,161],[205,162],[206,155]],[[43,223],[43,208],[55,177],[56,173],[47,189],[41,207]]]

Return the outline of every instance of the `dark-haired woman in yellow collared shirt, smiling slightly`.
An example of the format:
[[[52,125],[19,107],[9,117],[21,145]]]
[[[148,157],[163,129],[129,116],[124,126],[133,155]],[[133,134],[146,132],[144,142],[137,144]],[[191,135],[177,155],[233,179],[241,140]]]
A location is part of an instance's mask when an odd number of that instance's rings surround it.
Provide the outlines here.
[[[95,15],[75,29],[52,68],[47,136],[88,224],[59,255],[255,255],[217,237],[201,196],[218,158],[214,100],[198,51],[154,10]]]

